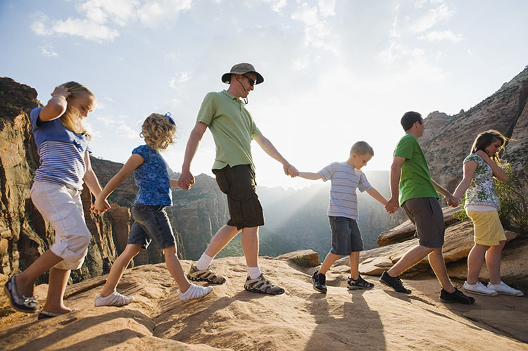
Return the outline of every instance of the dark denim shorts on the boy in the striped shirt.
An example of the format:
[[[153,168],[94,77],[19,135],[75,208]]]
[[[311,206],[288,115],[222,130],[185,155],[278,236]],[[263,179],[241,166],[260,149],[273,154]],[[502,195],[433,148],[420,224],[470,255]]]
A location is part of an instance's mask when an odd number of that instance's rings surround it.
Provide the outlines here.
[[[363,240],[356,219],[328,216],[332,230],[332,249],[334,255],[350,255],[363,251]]]

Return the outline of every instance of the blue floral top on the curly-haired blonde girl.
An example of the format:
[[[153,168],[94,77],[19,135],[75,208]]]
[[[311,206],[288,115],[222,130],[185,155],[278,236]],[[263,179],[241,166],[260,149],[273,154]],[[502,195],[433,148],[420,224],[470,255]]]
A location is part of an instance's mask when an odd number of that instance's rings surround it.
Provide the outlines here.
[[[139,191],[135,203],[138,205],[172,205],[170,178],[167,163],[161,155],[147,145],[132,150],[143,158],[143,163],[134,170]]]

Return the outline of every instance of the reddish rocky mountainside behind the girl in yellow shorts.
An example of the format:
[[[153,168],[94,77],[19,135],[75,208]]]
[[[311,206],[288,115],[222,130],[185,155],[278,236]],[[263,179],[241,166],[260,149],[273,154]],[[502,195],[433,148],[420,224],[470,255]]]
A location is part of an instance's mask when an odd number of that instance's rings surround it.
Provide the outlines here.
[[[453,191],[462,179],[462,161],[480,132],[496,129],[514,140],[503,156],[517,174],[528,167],[528,67],[470,110],[449,116],[434,111],[418,139],[433,179]]]

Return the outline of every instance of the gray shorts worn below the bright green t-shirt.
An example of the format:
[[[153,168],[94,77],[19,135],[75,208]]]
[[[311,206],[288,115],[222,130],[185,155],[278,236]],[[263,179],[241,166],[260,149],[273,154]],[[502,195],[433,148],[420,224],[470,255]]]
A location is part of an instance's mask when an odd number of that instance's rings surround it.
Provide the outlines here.
[[[426,248],[444,245],[446,223],[437,198],[410,198],[401,204],[407,217],[416,226],[415,237]]]

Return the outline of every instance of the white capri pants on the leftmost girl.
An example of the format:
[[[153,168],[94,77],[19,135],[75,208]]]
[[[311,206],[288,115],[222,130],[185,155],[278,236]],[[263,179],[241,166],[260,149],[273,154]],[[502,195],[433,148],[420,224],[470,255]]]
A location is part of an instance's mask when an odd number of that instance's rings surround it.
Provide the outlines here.
[[[60,184],[34,181],[30,193],[37,210],[55,229],[55,243],[50,250],[64,259],[55,268],[79,269],[92,238],[84,222],[81,192]]]

